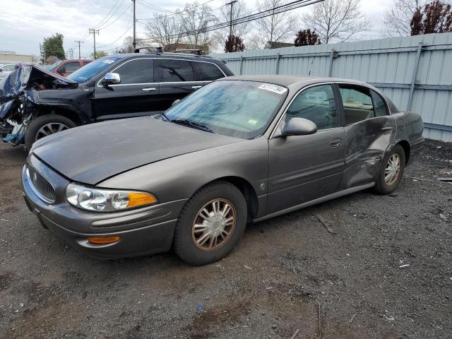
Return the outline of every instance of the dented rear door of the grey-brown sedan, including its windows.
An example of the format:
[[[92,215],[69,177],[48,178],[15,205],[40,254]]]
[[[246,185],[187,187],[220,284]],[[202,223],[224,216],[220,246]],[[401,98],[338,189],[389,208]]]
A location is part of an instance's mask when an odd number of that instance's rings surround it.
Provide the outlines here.
[[[345,120],[345,188],[373,182],[396,135],[386,101],[361,85],[338,84]]]

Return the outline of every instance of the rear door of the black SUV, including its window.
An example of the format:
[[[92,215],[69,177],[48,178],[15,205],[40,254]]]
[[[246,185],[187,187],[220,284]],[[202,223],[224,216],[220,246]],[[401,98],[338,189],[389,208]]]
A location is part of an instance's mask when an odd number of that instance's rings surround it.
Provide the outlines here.
[[[160,79],[160,109],[165,111],[174,100],[180,100],[201,88],[195,81],[193,66],[189,60],[158,59]]]

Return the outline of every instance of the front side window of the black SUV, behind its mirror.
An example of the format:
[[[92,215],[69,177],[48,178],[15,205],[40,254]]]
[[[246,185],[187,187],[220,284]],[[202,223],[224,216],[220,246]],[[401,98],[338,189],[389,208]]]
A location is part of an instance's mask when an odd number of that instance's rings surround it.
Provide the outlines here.
[[[154,82],[154,60],[136,59],[119,66],[113,73],[121,77],[121,84],[131,85],[136,83]]]

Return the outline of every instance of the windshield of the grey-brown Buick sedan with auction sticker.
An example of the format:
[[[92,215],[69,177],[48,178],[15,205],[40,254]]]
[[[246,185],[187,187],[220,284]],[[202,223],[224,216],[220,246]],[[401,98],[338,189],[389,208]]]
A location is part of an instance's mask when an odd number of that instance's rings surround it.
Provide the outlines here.
[[[256,81],[215,81],[170,107],[160,119],[189,122],[225,136],[261,136],[287,96],[287,88]]]

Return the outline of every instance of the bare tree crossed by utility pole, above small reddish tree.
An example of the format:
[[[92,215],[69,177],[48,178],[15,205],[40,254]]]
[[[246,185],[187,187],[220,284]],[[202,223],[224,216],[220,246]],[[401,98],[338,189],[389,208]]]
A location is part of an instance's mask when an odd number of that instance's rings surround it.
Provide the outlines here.
[[[232,10],[232,23],[234,20],[246,16],[248,14],[248,9],[246,8],[246,4],[244,0],[239,0],[233,5]],[[230,13],[231,6],[226,5],[220,8],[220,13],[218,13],[217,21],[219,23],[227,23],[230,21]],[[232,35],[236,37],[244,37],[246,32],[248,32],[250,28],[250,23],[239,23],[237,25],[232,26]],[[215,47],[225,47],[225,41],[227,37],[229,37],[230,28],[220,28],[219,30],[215,30],[212,35],[212,39],[215,42]]]

